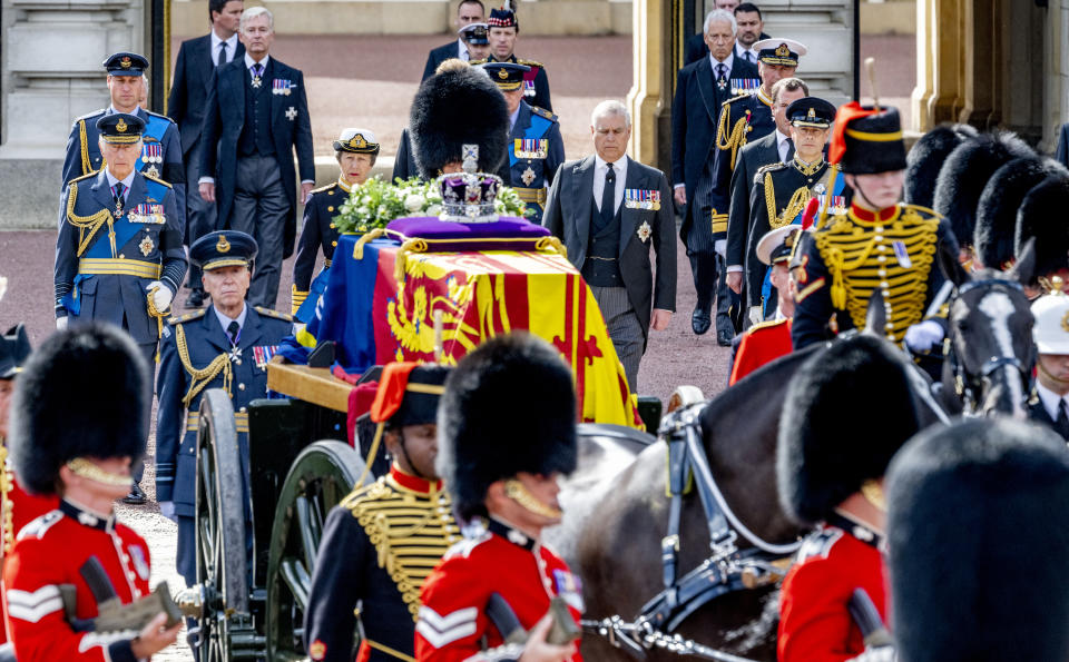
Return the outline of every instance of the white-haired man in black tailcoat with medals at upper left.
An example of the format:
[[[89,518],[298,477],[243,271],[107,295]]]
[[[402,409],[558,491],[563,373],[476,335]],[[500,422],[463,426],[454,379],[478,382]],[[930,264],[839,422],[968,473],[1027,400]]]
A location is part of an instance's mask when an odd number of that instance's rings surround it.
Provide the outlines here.
[[[263,7],[242,12],[245,56],[218,67],[204,116],[200,197],[218,208],[219,229],[252,235],[259,246],[249,304],[273,308],[282,260],[293,254],[297,202],[315,185],[312,123],[304,75],[268,55],[274,18]],[[297,152],[297,196],[293,152]]]

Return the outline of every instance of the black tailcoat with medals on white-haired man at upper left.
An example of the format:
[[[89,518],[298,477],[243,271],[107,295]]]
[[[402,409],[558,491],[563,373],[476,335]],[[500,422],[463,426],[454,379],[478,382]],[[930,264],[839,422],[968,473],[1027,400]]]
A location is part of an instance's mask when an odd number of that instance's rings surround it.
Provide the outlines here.
[[[282,186],[290,200],[284,256],[293,254],[297,234],[297,174],[293,167],[293,151],[297,151],[301,179],[315,180],[315,160],[312,149],[312,123],[308,120],[308,98],[304,91],[304,75],[275,58],[264,71],[263,85],[268,91],[273,80],[288,80],[288,95],[271,95],[271,135],[275,141]],[[237,141],[245,125],[245,59],[233,61],[215,70],[204,116],[205,149],[200,155],[200,172],[215,177],[215,199],[219,209],[218,227],[229,227],[234,192],[237,186]],[[214,147],[218,146],[218,149]]]

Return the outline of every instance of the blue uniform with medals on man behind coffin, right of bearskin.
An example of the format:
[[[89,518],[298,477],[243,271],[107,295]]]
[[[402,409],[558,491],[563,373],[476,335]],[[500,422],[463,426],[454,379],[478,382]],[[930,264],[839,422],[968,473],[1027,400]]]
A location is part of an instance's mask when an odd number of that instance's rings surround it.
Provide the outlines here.
[[[512,188],[534,210],[529,220],[542,223],[546,191],[565,162],[565,140],[557,116],[520,101],[509,142],[509,179]]]

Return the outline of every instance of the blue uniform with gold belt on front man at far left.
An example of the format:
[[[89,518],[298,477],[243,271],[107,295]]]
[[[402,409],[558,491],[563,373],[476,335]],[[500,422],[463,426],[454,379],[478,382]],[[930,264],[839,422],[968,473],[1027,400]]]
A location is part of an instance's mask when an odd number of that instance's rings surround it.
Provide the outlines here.
[[[108,322],[155,350],[159,320],[146,287],[160,280],[178,292],[186,273],[182,217],[170,185],[134,174],[122,214],[106,170],[63,190],[56,243],[56,316]],[[149,353],[150,354],[150,353]]]

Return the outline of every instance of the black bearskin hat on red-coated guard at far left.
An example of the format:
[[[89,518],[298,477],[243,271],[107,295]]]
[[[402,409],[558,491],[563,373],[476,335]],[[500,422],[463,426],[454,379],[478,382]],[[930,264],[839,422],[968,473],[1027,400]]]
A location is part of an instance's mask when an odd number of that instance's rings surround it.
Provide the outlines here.
[[[105,324],[57,333],[30,355],[11,406],[11,458],[19,483],[52,494],[76,457],[145,453],[148,366],[128,335]]]

